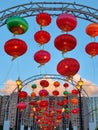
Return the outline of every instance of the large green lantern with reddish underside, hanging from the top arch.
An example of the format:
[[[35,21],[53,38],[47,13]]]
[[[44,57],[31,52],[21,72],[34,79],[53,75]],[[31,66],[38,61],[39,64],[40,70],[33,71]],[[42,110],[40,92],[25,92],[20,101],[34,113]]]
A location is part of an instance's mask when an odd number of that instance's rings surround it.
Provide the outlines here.
[[[13,34],[24,34],[28,30],[28,23],[27,21],[20,17],[20,16],[12,16],[10,17],[7,22],[7,27],[10,32]]]

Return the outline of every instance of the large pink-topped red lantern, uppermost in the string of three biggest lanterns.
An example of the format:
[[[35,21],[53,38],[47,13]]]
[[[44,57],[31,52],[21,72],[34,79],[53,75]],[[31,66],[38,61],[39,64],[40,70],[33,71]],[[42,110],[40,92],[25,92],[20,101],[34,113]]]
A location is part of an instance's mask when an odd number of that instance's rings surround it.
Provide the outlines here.
[[[72,31],[77,26],[77,19],[72,14],[60,14],[56,24],[64,32]]]

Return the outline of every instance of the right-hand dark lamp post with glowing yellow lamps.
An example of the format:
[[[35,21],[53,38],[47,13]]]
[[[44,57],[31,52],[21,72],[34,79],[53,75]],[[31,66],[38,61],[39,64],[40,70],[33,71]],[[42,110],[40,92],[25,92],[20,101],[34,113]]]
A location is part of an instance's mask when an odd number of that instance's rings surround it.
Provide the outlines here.
[[[83,81],[80,80],[77,82],[76,88],[78,89],[79,93],[79,116],[80,116],[80,130],[84,130],[83,128],[83,116],[82,116],[82,97],[81,97],[81,91],[82,91]]]

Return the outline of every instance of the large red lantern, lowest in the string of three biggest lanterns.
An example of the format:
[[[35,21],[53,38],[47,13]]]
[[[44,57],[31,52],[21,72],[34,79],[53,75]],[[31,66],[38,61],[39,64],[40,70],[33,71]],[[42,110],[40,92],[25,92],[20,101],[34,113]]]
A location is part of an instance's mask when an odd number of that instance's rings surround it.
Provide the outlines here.
[[[63,76],[72,77],[80,68],[79,62],[74,58],[65,58],[57,65],[57,72]]]

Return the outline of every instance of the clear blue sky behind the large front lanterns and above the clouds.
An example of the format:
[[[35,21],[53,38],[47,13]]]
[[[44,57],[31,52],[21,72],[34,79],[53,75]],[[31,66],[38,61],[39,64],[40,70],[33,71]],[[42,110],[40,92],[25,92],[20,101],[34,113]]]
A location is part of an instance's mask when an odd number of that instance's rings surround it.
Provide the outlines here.
[[[38,0],[45,1],[45,0]],[[78,4],[87,5],[97,9],[98,1],[93,0],[47,0],[50,2],[76,2]],[[0,2],[0,11],[10,8],[16,5],[29,3],[29,0],[2,0]],[[32,0],[32,2],[36,2],[36,0]],[[26,18],[29,23],[29,30],[21,36],[17,36],[28,45],[28,51],[23,56],[17,58],[14,61],[11,61],[11,57],[4,52],[4,44],[7,40],[13,38],[13,34],[10,33],[7,29],[7,26],[4,25],[0,28],[0,88],[4,87],[4,84],[8,80],[17,80],[20,77],[22,80],[26,78],[40,74],[40,73],[57,73],[56,65],[62,60],[61,52],[56,50],[54,47],[54,39],[56,36],[62,34],[61,31],[57,28],[55,23],[55,18],[52,19],[52,23],[45,27],[45,30],[48,31],[51,35],[51,40],[49,43],[45,45],[45,50],[51,53],[51,61],[48,62],[45,66],[38,68],[38,64],[34,61],[33,55],[40,48],[38,44],[34,41],[34,34],[39,30],[39,26],[37,25],[34,18]],[[73,57],[76,58],[80,63],[80,70],[78,74],[81,78],[87,79],[94,84],[98,85],[98,56],[91,58],[85,52],[85,46],[91,42],[91,38],[85,33],[86,26],[90,23],[85,20],[77,19],[78,25],[75,30],[71,32],[77,38],[77,46],[74,50],[65,54],[65,57]],[[43,28],[44,29],[44,28]],[[96,38],[96,42],[98,38]]]

